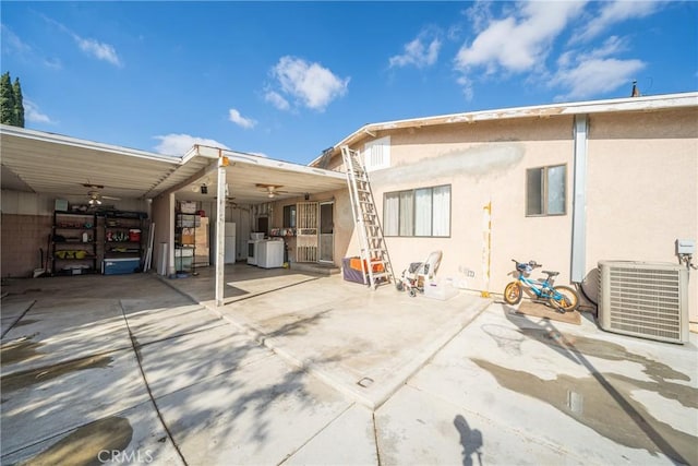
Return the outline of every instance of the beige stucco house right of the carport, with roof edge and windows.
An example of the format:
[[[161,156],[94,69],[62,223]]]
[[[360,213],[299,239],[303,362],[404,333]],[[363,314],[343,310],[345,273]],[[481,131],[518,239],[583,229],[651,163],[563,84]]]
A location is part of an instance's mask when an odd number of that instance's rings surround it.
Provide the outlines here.
[[[594,299],[599,261],[678,264],[698,238],[696,93],[366,124],[311,165],[342,169],[342,145],[364,154],[396,271],[443,250],[440,275],[501,292],[512,259],[535,260]]]

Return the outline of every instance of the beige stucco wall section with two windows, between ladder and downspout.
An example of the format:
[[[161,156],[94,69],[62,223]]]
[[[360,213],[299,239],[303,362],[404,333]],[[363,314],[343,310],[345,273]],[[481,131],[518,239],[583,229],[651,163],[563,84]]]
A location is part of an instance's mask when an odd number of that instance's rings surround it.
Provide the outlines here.
[[[473,289],[501,291],[510,279],[512,258],[534,259],[561,271],[561,282],[569,279],[571,118],[418,129],[392,134],[390,145],[394,168],[371,174],[380,212],[385,192],[452,187],[450,237],[388,238],[395,272],[438,249],[440,276],[464,278],[460,271],[471,270],[474,277],[467,280]],[[559,164],[567,164],[567,214],[526,217],[526,168]]]

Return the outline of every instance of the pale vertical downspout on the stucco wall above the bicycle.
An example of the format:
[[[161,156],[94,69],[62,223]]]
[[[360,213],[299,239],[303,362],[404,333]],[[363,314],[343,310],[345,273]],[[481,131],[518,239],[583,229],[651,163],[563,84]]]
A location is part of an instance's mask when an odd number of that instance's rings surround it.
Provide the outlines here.
[[[575,116],[574,198],[571,207],[570,280],[581,283],[587,276],[587,115]]]

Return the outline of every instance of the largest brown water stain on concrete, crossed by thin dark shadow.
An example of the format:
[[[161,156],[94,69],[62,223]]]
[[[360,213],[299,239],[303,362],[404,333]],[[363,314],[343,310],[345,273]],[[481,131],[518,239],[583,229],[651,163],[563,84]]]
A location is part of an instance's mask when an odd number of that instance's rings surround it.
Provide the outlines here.
[[[684,464],[698,464],[698,438],[654,418],[630,396],[638,385],[642,385],[642,390],[657,391],[658,383],[638,383],[612,373],[542,380],[482,359],[473,359],[473,362],[494,375],[502,386],[547,403],[616,443],[645,449],[653,455],[664,453]],[[682,403],[697,394],[695,389],[685,386]]]

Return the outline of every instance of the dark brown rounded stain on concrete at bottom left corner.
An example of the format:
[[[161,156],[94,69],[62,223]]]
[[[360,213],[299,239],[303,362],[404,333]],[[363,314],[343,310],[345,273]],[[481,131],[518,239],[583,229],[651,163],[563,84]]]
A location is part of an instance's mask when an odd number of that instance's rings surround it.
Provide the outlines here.
[[[75,429],[47,450],[20,464],[101,465],[110,463],[112,455],[125,450],[132,438],[133,428],[129,419],[110,416]]]

